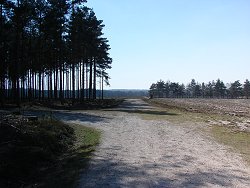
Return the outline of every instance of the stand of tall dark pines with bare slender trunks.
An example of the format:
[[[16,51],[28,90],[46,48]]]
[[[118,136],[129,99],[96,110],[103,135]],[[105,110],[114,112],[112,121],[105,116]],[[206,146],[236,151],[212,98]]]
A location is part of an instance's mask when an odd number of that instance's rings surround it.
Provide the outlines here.
[[[85,3],[0,1],[1,103],[95,99],[108,84],[112,59],[103,21]]]

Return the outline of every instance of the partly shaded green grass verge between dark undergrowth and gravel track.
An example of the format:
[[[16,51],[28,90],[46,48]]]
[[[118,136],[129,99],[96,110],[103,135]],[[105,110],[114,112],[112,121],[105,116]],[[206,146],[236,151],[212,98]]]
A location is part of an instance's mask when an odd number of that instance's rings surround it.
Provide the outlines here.
[[[76,136],[74,146],[61,157],[55,167],[49,169],[41,187],[76,187],[80,174],[87,169],[91,154],[99,144],[101,133],[82,125],[72,124],[70,127],[74,129]]]

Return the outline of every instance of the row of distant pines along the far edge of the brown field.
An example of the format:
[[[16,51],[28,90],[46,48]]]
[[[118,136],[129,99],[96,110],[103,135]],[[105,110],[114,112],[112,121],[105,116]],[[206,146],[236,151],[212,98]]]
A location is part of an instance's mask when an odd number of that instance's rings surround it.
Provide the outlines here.
[[[192,79],[186,86],[178,82],[164,82],[162,80],[153,83],[149,90],[151,97],[163,98],[249,98],[250,82],[248,79],[241,84],[239,80],[224,84],[220,79],[208,83],[198,83]]]

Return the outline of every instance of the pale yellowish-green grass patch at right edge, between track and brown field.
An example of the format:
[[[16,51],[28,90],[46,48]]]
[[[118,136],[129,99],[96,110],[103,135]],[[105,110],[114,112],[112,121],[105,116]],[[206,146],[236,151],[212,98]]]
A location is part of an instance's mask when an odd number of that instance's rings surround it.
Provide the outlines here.
[[[250,133],[238,131],[236,128],[212,126],[212,136],[220,143],[230,146],[250,164]]]

